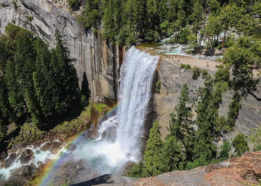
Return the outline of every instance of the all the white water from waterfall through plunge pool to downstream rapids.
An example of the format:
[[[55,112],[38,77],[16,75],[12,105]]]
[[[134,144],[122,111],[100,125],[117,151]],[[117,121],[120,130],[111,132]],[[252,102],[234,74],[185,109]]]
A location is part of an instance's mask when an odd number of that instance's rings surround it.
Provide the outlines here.
[[[66,171],[75,169],[78,175],[75,175],[72,183],[86,181],[102,174],[122,175],[126,164],[138,163],[142,159],[142,149],[146,142],[142,136],[146,132],[144,124],[158,60],[158,56],[151,56],[135,47],[126,52],[120,71],[119,104],[113,114],[98,124],[97,139],[86,139],[84,133],[81,133],[71,141],[71,144],[75,144],[72,145],[75,150],[68,151],[66,146],[69,143],[61,143],[63,148],[55,154],[41,150],[45,143],[38,148],[27,148],[33,151],[34,157],[23,165],[29,166],[33,163],[35,167],[40,167],[41,163],[47,163],[48,159],[53,162],[45,167],[48,171],[40,185],[62,183],[64,178],[61,174],[74,174]],[[0,169],[2,180],[8,179],[22,167],[20,157],[23,150],[14,153],[15,160],[10,167]],[[9,157],[10,155],[6,159]],[[74,164],[70,164],[71,162]],[[66,166],[71,167],[64,169]]]

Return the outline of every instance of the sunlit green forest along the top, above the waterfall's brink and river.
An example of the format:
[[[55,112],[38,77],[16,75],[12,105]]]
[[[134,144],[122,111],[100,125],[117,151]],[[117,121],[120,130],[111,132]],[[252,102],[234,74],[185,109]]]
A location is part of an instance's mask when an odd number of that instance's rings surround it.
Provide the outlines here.
[[[77,0],[68,2],[79,5]],[[102,26],[104,37],[119,44],[132,45],[137,39],[158,41],[173,35],[168,43],[189,42],[192,51],[200,52],[197,47],[202,47],[203,41],[206,54],[213,55],[211,48],[219,45],[222,32],[222,47],[233,43],[233,37],[226,34],[229,28],[234,27],[238,34],[253,34],[257,21],[252,15],[260,16],[258,5],[257,0],[88,0],[78,20],[95,32]]]

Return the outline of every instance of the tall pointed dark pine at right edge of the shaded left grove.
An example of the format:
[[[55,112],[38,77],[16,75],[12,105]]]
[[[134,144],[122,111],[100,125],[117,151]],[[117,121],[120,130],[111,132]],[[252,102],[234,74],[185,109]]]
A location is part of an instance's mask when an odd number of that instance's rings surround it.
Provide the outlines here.
[[[66,47],[58,30],[55,32],[57,45],[51,51],[52,78],[55,79],[52,102],[58,114],[64,113],[79,99],[79,83],[73,60],[69,57],[70,51]]]

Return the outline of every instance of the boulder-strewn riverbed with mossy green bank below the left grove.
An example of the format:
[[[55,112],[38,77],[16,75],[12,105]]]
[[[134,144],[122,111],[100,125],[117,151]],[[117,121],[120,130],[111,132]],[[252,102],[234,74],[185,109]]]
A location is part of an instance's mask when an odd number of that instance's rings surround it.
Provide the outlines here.
[[[79,141],[96,137],[97,120],[106,111],[106,105],[91,103],[79,117],[64,121],[48,132],[25,124],[10,141],[9,148],[0,154],[0,185],[34,185],[44,181],[51,168],[55,172],[49,181],[54,185],[70,185],[97,177],[88,163],[75,158],[73,152]],[[37,138],[33,137],[36,132],[41,134]]]

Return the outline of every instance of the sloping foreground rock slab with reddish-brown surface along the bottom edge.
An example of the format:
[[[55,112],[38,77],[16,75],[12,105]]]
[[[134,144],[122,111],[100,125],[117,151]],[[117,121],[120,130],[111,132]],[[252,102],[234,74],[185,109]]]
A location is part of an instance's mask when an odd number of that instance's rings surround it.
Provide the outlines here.
[[[129,178],[106,174],[73,186],[259,185],[260,167],[261,151],[246,153],[239,158],[192,170],[167,172],[149,178]]]

